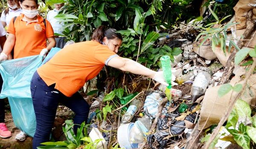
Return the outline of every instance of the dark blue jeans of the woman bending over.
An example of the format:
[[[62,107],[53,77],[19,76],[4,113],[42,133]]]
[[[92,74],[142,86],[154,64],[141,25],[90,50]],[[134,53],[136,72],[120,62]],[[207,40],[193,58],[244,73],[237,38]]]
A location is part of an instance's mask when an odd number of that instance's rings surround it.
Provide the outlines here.
[[[90,107],[78,92],[71,97],[67,97],[54,89],[54,85],[48,86],[38,75],[37,71],[31,80],[30,90],[36,117],[33,149],[42,146],[40,143],[49,141],[59,102],[76,113],[74,124],[80,125],[82,122],[86,122],[88,118]],[[75,125],[75,133],[77,128],[78,126]]]

